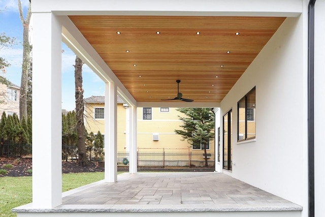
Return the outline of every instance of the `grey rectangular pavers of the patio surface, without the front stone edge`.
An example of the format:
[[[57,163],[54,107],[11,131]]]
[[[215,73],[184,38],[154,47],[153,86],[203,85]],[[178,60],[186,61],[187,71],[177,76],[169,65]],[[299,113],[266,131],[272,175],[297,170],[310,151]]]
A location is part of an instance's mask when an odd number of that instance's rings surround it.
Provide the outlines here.
[[[63,204],[208,204],[231,207],[297,206],[222,173],[123,173],[63,198]]]

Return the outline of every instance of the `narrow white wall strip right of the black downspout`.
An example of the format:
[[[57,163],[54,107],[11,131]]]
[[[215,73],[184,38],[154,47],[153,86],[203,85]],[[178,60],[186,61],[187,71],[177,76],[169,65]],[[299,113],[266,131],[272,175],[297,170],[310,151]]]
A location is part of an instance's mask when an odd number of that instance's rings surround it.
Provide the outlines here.
[[[325,216],[325,1],[315,3],[315,216]]]

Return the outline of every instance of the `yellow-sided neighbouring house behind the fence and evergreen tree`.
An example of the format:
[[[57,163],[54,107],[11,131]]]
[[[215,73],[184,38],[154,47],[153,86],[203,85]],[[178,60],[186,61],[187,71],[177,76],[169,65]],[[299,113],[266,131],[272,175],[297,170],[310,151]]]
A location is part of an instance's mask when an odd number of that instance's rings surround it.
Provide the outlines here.
[[[85,102],[85,128],[88,133],[105,136],[104,96],[91,96]],[[128,151],[126,143],[126,109],[127,104],[117,96],[117,151]],[[139,107],[137,108],[137,146],[138,151],[201,151],[201,144],[190,145],[174,132],[179,130],[183,116],[177,108]],[[214,152],[214,140],[207,144],[207,151]]]

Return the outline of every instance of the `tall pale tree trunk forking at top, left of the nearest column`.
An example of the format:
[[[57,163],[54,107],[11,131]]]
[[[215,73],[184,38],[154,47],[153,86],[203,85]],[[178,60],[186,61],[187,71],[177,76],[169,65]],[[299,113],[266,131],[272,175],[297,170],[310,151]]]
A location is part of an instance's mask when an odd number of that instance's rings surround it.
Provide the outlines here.
[[[30,51],[29,44],[29,21],[31,16],[30,3],[28,6],[26,19],[22,14],[21,2],[18,0],[19,17],[23,26],[23,56],[22,56],[22,70],[20,81],[20,97],[19,97],[19,118],[27,118],[27,89],[28,89],[28,70],[30,65]]]

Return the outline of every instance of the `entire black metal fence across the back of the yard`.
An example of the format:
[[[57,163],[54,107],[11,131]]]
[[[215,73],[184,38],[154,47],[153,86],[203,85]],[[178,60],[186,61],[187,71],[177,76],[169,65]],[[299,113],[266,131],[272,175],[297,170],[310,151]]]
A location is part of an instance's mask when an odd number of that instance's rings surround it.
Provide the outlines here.
[[[1,157],[31,158],[31,145],[14,144],[9,142],[0,143]],[[87,148],[89,161],[105,161],[104,148]],[[62,160],[78,160],[78,147],[62,145]],[[117,152],[117,167],[128,168],[129,152]],[[204,154],[198,151],[138,151],[138,168],[214,168],[214,152]]]

